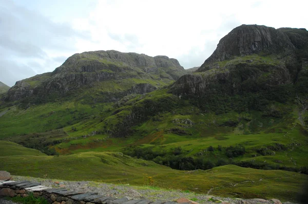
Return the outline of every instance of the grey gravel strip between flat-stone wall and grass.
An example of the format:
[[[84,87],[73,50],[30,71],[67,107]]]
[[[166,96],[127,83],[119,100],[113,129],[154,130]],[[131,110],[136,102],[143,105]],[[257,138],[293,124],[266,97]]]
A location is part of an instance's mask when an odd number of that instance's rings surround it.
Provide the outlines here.
[[[163,190],[155,187],[137,187],[129,185],[115,185],[109,183],[101,183],[94,181],[62,181],[62,180],[51,180],[25,176],[12,176],[14,181],[32,181],[41,182],[42,185],[50,188],[65,188],[72,191],[81,192],[97,192],[104,196],[115,196],[125,197],[129,196],[134,199],[149,199],[149,200],[175,200],[181,197],[188,198],[199,202],[200,204],[213,204],[215,200],[220,200],[228,203],[242,204],[243,202],[239,198],[222,198],[218,196],[210,196],[206,194],[186,193],[180,190]],[[209,199],[212,198],[212,201]],[[214,202],[213,202],[214,201]],[[266,201],[263,199],[246,199],[247,204],[272,204],[272,201]],[[0,202],[1,203],[1,202]],[[290,202],[288,202],[290,204]]]

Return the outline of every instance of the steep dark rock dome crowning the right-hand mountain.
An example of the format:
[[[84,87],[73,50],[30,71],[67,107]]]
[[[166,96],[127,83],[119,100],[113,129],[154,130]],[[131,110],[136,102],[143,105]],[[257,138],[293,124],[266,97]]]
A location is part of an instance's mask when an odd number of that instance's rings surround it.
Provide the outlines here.
[[[251,54],[292,53],[295,47],[288,36],[272,27],[241,25],[224,36],[214,53],[201,66]]]

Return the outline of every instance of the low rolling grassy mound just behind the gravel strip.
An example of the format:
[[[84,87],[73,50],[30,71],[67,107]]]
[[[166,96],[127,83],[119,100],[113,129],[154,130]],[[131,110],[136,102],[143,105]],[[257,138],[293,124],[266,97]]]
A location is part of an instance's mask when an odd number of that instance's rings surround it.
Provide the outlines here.
[[[0,141],[2,151],[21,151],[19,145]],[[23,147],[22,147],[23,148]],[[0,156],[0,169],[13,175],[94,180],[144,185],[151,176],[154,186],[243,198],[280,198],[296,201],[301,181],[308,176],[294,172],[255,170],[225,165],[208,171],[178,171],[151,161],[117,152],[88,152],[65,156]],[[172,182],[170,182],[172,180]]]

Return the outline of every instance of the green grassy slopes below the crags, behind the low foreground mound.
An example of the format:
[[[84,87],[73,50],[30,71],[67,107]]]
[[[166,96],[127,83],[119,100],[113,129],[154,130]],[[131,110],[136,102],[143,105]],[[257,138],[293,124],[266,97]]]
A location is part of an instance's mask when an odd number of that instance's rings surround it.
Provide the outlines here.
[[[33,148],[44,144],[60,154],[122,151],[175,169],[183,169],[183,158],[195,159],[184,170],[195,169],[197,159],[214,164],[199,166],[202,169],[230,163],[299,172],[308,166],[307,131],[299,105],[273,102],[262,111],[217,114],[166,91],[136,95],[115,105],[59,102],[11,108],[0,117],[0,136],[15,136],[10,140]],[[238,145],[244,146],[244,154],[228,154],[230,146]],[[209,146],[214,150],[208,151]],[[178,164],[168,164],[170,159]]]

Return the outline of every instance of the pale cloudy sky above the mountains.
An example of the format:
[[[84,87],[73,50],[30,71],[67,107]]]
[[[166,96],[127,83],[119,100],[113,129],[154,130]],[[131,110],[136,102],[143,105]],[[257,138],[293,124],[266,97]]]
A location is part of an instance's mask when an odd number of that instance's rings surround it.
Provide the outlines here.
[[[0,0],[0,81],[53,71],[74,53],[167,55],[200,66],[242,24],[308,29],[308,1]]]

